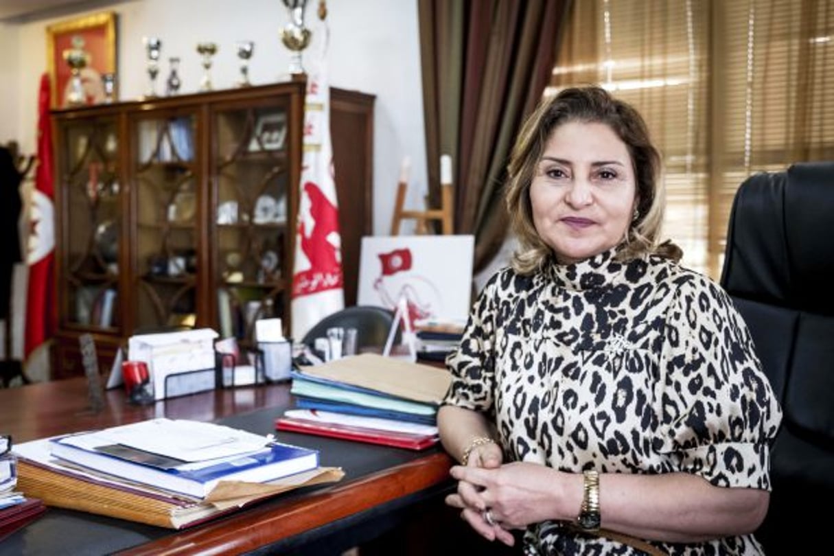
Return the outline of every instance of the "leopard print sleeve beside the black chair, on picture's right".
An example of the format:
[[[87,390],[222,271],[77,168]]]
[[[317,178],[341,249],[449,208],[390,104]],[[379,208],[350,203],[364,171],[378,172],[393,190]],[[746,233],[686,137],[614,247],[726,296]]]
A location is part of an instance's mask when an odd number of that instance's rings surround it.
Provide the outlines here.
[[[729,296],[681,273],[661,354],[661,451],[672,467],[724,487],[770,489],[781,409]]]

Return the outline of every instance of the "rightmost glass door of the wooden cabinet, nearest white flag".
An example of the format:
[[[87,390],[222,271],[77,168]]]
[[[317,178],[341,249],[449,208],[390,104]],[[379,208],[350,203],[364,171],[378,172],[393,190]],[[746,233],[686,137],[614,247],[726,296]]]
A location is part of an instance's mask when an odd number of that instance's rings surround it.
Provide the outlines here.
[[[255,320],[284,316],[288,113],[272,104],[214,114],[217,320],[221,336],[244,343]]]

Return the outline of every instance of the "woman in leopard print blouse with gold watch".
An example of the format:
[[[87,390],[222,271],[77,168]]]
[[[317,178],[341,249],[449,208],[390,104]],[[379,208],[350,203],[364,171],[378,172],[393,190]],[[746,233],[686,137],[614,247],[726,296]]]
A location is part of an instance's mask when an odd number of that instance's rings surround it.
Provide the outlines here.
[[[601,88],[563,91],[520,132],[520,246],[475,303],[438,415],[463,463],[446,501],[485,538],[761,553],[781,410],[726,293],[657,244],[660,171],[641,116]]]

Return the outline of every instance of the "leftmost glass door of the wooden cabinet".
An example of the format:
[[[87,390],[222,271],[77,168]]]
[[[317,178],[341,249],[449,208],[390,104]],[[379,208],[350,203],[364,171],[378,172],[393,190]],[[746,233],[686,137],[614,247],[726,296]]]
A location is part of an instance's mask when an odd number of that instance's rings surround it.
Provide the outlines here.
[[[70,326],[120,328],[118,265],[122,215],[116,118],[63,123],[61,178],[64,229],[61,275]]]

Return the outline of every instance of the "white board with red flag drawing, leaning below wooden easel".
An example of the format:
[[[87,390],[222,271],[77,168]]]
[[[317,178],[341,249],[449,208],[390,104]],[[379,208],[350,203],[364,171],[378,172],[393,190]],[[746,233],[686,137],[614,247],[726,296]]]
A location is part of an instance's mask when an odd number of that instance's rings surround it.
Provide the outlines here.
[[[405,300],[415,323],[465,323],[472,306],[475,237],[362,238],[357,304],[396,311]]]

